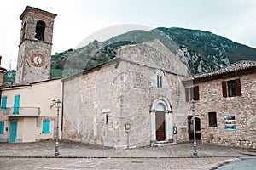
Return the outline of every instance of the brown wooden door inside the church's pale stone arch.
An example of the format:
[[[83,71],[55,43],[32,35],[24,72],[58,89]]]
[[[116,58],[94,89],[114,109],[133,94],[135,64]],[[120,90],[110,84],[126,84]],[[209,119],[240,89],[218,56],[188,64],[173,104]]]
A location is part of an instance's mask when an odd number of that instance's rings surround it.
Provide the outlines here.
[[[166,140],[166,121],[165,121],[164,111],[156,111],[155,127],[156,127],[156,140],[165,141]]]

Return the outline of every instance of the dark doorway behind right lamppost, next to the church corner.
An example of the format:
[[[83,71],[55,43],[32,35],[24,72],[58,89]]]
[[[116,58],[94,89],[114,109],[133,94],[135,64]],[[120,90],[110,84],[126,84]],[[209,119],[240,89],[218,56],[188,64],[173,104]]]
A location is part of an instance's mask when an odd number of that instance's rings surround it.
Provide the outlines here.
[[[194,140],[193,116],[188,116],[188,126],[189,140]],[[195,139],[201,140],[201,120],[199,117],[195,117]]]

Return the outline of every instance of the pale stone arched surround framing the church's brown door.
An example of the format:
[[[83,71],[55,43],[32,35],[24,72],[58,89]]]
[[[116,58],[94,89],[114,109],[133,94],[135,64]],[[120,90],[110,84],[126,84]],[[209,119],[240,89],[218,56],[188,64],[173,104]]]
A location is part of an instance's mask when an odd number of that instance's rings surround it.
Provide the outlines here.
[[[173,141],[173,129],[172,129],[172,105],[168,99],[164,96],[155,98],[151,105],[150,122],[151,122],[151,144],[155,144],[159,141],[156,139],[156,114],[157,112],[164,112],[165,114],[165,136],[166,139],[161,142]]]

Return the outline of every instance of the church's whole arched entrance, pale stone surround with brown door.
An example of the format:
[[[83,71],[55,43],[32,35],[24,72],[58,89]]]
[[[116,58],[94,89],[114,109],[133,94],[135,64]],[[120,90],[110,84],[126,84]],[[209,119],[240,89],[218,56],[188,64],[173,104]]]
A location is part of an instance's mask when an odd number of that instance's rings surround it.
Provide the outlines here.
[[[150,111],[151,143],[172,142],[172,106],[166,97],[154,99]]]

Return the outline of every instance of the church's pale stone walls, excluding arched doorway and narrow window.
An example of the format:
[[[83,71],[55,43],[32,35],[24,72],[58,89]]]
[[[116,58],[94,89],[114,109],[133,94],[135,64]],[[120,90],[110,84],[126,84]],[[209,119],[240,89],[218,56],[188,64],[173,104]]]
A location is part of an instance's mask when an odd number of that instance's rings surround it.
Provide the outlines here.
[[[143,45],[134,48],[147,51],[148,47]],[[124,147],[127,144],[125,123],[131,124],[130,145],[149,145],[150,108],[155,98],[164,96],[172,105],[172,125],[178,127],[177,134],[173,136],[174,142],[187,140],[187,117],[183,109],[184,98],[181,97],[184,91],[181,84],[183,77],[178,77],[171,72],[172,68],[168,68],[169,71],[164,71],[163,88],[157,88],[156,72],[161,68],[162,60],[148,65],[148,61],[137,59],[142,59],[137,53],[129,54],[130,61],[122,54],[102,67],[64,80],[63,138],[106,145],[108,114],[110,146]],[[162,55],[159,52],[156,54],[158,58]],[[183,68],[183,64],[177,65]]]

